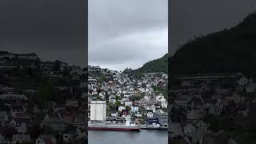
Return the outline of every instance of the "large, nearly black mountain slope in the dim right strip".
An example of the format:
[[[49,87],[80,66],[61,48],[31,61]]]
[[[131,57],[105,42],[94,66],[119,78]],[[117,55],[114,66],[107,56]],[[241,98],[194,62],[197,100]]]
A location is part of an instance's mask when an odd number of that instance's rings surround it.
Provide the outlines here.
[[[256,74],[256,13],[230,29],[187,42],[169,66],[173,74]]]

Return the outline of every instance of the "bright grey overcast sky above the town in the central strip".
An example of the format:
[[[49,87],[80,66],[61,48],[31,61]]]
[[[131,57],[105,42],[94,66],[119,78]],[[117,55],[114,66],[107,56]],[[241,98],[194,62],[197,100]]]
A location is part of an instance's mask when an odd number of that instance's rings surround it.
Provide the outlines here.
[[[89,0],[89,64],[133,69],[168,52],[167,0]]]

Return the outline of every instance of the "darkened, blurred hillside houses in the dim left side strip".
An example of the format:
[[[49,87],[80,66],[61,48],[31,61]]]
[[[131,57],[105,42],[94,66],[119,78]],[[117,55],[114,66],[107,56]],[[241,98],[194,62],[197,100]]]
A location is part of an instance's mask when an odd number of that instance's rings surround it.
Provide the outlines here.
[[[0,51],[0,143],[87,143],[87,68]]]

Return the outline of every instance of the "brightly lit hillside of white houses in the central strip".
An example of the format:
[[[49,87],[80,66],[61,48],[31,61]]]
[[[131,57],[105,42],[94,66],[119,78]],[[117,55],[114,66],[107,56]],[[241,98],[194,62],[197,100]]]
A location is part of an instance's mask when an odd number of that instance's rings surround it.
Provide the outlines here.
[[[88,71],[89,121],[124,122],[129,116],[144,128],[167,129],[167,74],[146,73],[136,78],[99,66],[88,66]],[[95,118],[90,109],[95,102],[106,102],[104,117]]]

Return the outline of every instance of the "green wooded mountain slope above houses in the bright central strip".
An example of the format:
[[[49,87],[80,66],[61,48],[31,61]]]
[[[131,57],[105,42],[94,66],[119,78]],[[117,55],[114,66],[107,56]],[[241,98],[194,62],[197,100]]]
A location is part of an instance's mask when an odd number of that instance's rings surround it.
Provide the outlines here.
[[[156,72],[165,72],[168,71],[168,54],[165,54],[162,58],[158,58],[152,60],[150,62],[146,62],[142,67],[137,70],[126,69],[123,73],[140,75],[142,73],[156,73]]]

